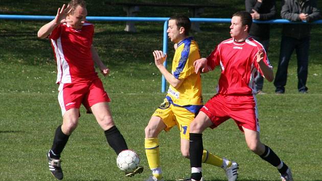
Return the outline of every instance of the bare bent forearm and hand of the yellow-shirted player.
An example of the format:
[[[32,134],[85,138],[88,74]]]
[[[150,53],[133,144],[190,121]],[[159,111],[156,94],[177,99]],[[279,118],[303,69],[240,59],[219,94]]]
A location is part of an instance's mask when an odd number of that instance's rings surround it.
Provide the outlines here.
[[[184,79],[177,79],[175,78],[165,66],[163,66],[163,62],[166,60],[166,55],[163,51],[155,50],[153,52],[154,62],[156,67],[159,69],[160,73],[166,78],[166,80],[175,88],[178,88]]]

